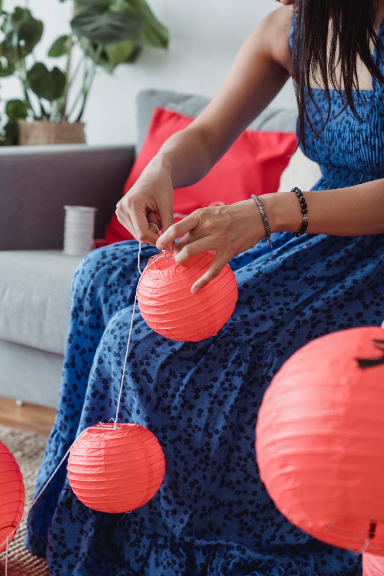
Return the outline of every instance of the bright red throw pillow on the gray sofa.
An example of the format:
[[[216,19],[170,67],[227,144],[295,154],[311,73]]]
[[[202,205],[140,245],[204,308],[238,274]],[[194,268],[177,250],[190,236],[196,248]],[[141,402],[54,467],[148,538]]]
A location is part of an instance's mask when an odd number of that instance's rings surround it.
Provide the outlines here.
[[[155,108],[145,143],[124,186],[124,194],[166,139],[186,128],[192,120],[178,112]],[[248,199],[251,194],[276,192],[296,144],[296,135],[292,132],[245,130],[202,180],[174,191],[176,221],[197,208],[231,204]],[[132,240],[115,214],[105,231],[105,238],[108,244]]]

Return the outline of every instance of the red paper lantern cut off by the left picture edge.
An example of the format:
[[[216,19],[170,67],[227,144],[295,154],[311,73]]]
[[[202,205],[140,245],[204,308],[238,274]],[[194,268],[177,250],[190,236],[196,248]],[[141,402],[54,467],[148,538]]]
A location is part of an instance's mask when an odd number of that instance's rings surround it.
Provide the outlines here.
[[[5,550],[21,522],[24,482],[20,468],[5,444],[0,442],[0,552]]]

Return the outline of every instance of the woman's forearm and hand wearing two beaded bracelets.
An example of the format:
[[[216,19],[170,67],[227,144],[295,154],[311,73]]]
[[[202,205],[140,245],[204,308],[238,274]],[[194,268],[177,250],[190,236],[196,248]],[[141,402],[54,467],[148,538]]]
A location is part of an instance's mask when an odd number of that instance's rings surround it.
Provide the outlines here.
[[[303,192],[303,195],[308,211],[307,233],[333,236],[384,233],[384,179],[339,190]],[[261,202],[272,233],[299,231],[303,221],[296,194],[264,194]],[[263,237],[263,219],[256,203],[250,199],[230,206],[196,210],[168,228],[156,245],[172,250],[179,264],[198,252],[215,251],[211,267],[191,287],[192,292],[197,292],[215,278],[231,258]]]

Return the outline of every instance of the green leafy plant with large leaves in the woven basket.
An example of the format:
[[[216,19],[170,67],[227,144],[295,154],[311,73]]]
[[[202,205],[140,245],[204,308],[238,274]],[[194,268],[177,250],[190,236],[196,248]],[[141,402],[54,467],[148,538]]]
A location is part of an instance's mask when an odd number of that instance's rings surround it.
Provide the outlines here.
[[[23,94],[3,105],[0,145],[17,143],[20,119],[78,122],[98,66],[112,73],[134,62],[144,44],[168,46],[168,30],[145,0],[77,0],[70,24],[71,33],[48,51],[50,58],[65,57],[64,69],[48,69],[34,53],[43,22],[27,7],[6,12],[0,0],[0,79],[16,77]],[[80,55],[76,62],[74,55]]]

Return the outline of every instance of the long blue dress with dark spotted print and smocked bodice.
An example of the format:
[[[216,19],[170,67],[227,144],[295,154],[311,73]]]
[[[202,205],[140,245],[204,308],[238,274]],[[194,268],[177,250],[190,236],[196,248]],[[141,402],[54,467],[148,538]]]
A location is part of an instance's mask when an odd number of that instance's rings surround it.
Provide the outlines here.
[[[356,100],[363,123],[341,111],[333,91],[321,137],[306,128],[307,154],[322,169],[315,190],[384,177],[384,87],[373,88]],[[324,92],[315,90],[315,98],[325,113]],[[58,412],[36,490],[80,431],[115,416],[137,251],[130,241],[97,249],[75,272]],[[142,263],[153,253],[144,247]],[[26,537],[50,574],[361,574],[360,558],[312,539],[276,510],[258,478],[254,426],[265,389],[299,347],[335,330],[381,324],[384,234],[273,234],[272,251],[261,241],[230,264],[239,299],[218,335],[173,342],[136,314],[119,421],[157,436],[164,483],[140,509],[104,514],[78,501],[63,466],[33,507]]]

